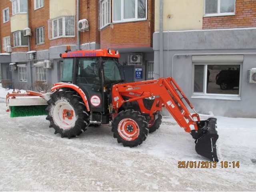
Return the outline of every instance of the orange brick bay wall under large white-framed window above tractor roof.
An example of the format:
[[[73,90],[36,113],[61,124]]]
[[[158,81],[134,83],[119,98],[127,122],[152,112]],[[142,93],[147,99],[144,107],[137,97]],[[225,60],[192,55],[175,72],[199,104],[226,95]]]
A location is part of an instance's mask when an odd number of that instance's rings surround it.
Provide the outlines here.
[[[100,47],[152,47],[153,14],[154,0],[148,0],[148,20],[110,24],[100,31]]]

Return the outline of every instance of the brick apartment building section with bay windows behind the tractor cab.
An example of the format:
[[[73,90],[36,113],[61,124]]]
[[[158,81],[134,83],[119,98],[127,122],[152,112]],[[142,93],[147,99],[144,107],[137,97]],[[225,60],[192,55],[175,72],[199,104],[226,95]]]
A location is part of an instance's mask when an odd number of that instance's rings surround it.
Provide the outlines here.
[[[152,78],[154,0],[1,0],[0,9],[2,79],[16,88],[59,82],[67,45],[118,49],[128,81]],[[89,27],[78,31],[82,19]]]

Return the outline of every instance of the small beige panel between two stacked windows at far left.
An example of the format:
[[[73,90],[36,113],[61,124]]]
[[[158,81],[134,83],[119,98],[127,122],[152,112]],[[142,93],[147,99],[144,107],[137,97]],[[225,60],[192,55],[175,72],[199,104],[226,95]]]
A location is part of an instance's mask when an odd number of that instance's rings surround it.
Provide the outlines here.
[[[24,30],[28,27],[28,14],[16,14],[11,16],[11,32]]]

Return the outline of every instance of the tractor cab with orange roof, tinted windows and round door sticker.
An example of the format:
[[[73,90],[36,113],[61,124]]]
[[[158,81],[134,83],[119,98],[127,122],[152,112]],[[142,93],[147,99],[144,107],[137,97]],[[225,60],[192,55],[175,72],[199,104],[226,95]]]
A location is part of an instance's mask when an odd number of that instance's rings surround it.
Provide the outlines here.
[[[61,57],[64,59],[61,81],[82,89],[91,112],[96,113],[93,117],[98,116],[94,120],[101,122],[104,119],[102,114],[108,113],[110,88],[123,81],[118,63],[119,52],[110,49],[81,50],[66,52]],[[106,119],[109,119],[109,114]]]

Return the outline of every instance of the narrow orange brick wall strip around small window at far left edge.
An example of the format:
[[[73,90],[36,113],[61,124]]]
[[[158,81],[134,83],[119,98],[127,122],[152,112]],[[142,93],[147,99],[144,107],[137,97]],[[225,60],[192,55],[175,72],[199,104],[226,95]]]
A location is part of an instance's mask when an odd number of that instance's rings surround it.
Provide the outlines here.
[[[3,22],[3,9],[9,7],[9,18],[11,19],[12,16],[12,2],[10,0],[1,0],[0,3],[0,47],[1,52],[5,52],[3,50],[3,38],[6,36],[11,36],[11,21],[4,23]]]

